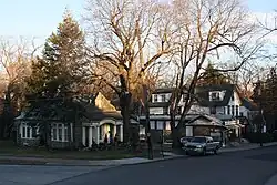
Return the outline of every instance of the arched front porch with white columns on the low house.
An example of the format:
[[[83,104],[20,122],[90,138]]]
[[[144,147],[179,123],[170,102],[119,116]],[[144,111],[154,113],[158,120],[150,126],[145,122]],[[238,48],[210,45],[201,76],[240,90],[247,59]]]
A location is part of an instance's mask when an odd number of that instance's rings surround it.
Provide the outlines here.
[[[123,142],[123,123],[111,119],[94,123],[82,124],[82,144],[86,147],[103,143],[105,135],[107,135],[107,143],[113,141],[115,134],[119,135],[119,141]]]

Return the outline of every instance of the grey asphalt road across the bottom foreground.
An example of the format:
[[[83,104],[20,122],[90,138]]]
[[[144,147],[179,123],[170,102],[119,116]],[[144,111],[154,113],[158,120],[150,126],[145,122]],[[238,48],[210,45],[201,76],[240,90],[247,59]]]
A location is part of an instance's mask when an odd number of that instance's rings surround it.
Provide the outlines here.
[[[112,168],[0,166],[0,185],[264,185],[276,173],[277,146]]]

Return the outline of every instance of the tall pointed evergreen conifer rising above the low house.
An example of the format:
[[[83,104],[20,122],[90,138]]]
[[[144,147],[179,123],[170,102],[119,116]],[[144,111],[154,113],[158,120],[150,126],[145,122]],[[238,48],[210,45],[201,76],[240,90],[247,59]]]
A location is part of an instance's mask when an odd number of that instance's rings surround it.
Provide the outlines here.
[[[85,40],[78,22],[65,11],[63,21],[44,44],[42,58],[32,64],[30,92],[47,97],[78,91],[85,79]]]

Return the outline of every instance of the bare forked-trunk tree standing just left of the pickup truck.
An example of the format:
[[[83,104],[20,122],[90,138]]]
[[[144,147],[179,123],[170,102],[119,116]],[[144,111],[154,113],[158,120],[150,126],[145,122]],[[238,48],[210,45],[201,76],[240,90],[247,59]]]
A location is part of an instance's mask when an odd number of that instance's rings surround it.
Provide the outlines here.
[[[170,107],[173,144],[176,145],[177,106],[182,94],[186,92],[187,99],[179,120],[179,123],[183,123],[193,101],[197,99],[194,90],[207,59],[232,56],[236,60],[236,66],[217,71],[237,71],[245,62],[256,58],[263,44],[260,40],[256,40],[255,22],[239,0],[177,0],[172,9],[176,13],[174,20],[178,28],[173,60],[179,70]],[[186,82],[185,74],[189,66],[194,72],[192,79]]]

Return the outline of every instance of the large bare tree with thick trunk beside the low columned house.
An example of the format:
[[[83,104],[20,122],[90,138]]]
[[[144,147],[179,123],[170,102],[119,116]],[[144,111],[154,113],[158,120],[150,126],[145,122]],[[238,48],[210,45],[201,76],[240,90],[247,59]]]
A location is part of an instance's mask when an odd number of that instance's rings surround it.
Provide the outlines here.
[[[91,0],[86,6],[91,60],[94,68],[105,69],[94,70],[93,75],[120,97],[125,142],[131,137],[132,93],[150,79],[151,69],[158,69],[163,63],[160,59],[171,52],[166,11],[148,0]]]

